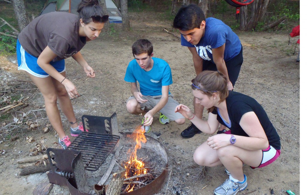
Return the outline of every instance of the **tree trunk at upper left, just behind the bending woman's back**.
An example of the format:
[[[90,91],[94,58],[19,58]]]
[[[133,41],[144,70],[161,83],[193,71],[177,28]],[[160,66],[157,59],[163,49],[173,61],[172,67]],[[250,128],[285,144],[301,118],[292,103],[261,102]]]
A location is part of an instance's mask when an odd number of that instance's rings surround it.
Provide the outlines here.
[[[25,12],[25,4],[23,0],[12,0],[13,9],[18,21],[20,31],[29,24],[29,19]]]

